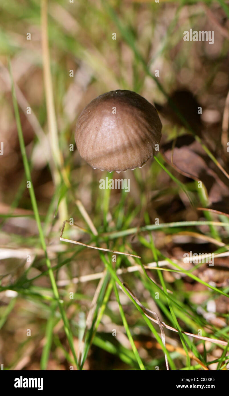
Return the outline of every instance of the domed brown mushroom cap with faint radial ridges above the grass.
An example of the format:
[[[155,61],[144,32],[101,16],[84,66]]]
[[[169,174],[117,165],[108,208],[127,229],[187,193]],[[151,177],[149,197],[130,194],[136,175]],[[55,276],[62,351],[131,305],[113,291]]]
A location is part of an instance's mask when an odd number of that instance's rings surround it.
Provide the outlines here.
[[[161,128],[151,103],[135,92],[118,89],[98,96],[84,108],[75,141],[80,156],[94,169],[125,171],[141,167],[153,157]]]

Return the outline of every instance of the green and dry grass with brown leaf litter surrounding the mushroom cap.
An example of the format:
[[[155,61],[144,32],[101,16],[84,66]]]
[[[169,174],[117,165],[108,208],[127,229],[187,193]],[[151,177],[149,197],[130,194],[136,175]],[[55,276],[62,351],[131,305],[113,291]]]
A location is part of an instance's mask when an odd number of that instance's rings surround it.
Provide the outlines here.
[[[2,0],[4,369],[166,370],[160,328],[122,282],[178,330],[164,330],[170,369],[227,369],[228,18],[223,0]],[[189,29],[214,30],[214,44],[184,42]],[[113,89],[135,91],[158,109],[164,169],[149,160],[107,175],[80,158],[78,115]],[[130,192],[100,190],[106,176],[130,179]],[[117,254],[113,262],[112,253],[60,241],[66,219],[78,227],[66,226],[64,238],[141,260]],[[184,264],[190,251],[215,253],[214,267]]]

